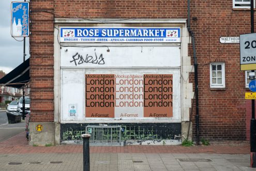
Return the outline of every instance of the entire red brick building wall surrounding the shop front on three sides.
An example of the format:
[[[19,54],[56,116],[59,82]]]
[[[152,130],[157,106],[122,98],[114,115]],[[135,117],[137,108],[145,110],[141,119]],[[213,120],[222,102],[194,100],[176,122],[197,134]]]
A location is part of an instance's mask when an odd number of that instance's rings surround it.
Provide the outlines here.
[[[31,110],[34,122],[53,122],[54,18],[187,18],[187,1],[32,0],[30,8]],[[197,18],[197,21],[191,20],[191,29],[199,64],[200,136],[208,140],[245,140],[245,72],[239,68],[239,44],[221,44],[219,38],[238,37],[250,32],[250,11],[233,10],[232,0],[195,0],[191,1],[192,17]],[[189,54],[192,56],[191,46]],[[210,62],[225,62],[225,90],[210,89]],[[193,73],[190,82],[194,82]],[[192,111],[194,123],[195,107]],[[195,127],[193,135],[195,138]]]

